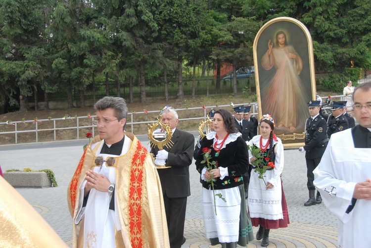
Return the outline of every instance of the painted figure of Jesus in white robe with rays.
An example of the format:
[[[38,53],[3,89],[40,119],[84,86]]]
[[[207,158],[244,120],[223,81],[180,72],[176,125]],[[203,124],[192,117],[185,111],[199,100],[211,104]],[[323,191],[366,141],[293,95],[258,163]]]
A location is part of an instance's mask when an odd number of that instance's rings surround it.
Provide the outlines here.
[[[276,73],[262,91],[265,112],[271,113],[277,128],[296,129],[307,119],[307,100],[299,74],[303,69],[300,55],[287,42],[283,31],[276,33],[275,43],[269,40],[268,50],[261,59],[265,70],[276,68]],[[284,98],[283,98],[284,96]]]

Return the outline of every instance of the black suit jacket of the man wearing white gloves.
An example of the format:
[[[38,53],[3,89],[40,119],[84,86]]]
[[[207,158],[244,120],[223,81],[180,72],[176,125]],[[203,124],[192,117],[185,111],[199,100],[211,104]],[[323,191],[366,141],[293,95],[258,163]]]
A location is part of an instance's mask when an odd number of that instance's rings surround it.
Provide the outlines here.
[[[171,141],[171,149],[164,147],[169,152],[166,165],[171,168],[157,169],[161,181],[162,193],[169,198],[190,196],[189,165],[192,163],[194,136],[188,132],[175,129]],[[151,150],[155,156],[158,147]]]

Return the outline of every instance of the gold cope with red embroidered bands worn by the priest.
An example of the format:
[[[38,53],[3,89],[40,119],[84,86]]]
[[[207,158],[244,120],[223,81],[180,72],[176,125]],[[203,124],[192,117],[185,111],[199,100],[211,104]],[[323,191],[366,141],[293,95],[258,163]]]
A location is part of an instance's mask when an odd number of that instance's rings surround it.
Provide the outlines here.
[[[137,137],[125,132],[133,142],[128,153],[117,157],[115,199],[121,224],[116,244],[125,247],[168,247],[169,238],[163,206],[161,184],[152,159]],[[103,142],[99,136],[92,143]],[[99,144],[95,148],[99,147]],[[95,151],[87,147],[68,186],[67,200],[73,219],[76,218],[80,187],[86,171],[93,165]],[[73,246],[80,225],[74,225]],[[122,237],[122,238],[121,238]]]

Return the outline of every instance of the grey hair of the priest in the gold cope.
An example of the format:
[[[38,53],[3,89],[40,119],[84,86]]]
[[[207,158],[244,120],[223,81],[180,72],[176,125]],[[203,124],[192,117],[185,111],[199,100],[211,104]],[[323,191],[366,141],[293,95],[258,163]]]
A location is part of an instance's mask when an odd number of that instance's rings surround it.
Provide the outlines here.
[[[106,109],[113,109],[115,112],[115,117],[120,121],[122,119],[127,119],[128,117],[128,107],[124,98],[105,96],[94,104],[94,109],[96,111],[103,111]]]

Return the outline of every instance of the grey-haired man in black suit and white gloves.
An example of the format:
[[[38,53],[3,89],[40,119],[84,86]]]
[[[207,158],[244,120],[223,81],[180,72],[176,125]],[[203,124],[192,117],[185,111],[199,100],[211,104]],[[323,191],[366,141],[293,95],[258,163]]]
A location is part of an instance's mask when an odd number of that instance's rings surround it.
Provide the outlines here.
[[[192,163],[194,136],[177,128],[177,112],[169,106],[161,111],[161,122],[171,126],[174,144],[170,149],[154,147],[156,165],[169,165],[158,169],[169,230],[171,248],[180,248],[185,243],[184,223],[187,197],[190,196],[189,165]],[[150,206],[149,206],[150,207]]]

